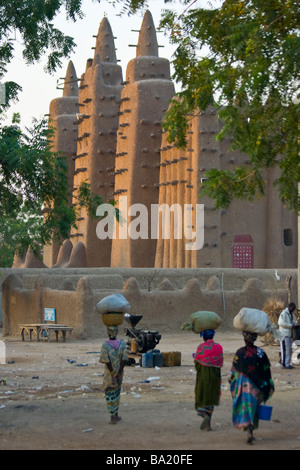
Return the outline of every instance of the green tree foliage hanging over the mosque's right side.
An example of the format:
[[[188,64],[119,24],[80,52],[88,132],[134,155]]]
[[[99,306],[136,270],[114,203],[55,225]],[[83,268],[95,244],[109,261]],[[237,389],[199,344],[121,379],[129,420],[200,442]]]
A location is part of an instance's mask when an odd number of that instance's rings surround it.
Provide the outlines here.
[[[151,2],[125,3],[132,11],[151,8]],[[253,199],[264,193],[265,170],[278,166],[279,197],[299,212],[299,2],[179,3],[182,9],[165,10],[160,25],[176,46],[173,79],[182,90],[164,121],[169,141],[185,147],[191,116],[216,106],[223,122],[218,139],[230,136],[232,149],[247,154],[250,164],[207,171],[201,194],[217,207]]]

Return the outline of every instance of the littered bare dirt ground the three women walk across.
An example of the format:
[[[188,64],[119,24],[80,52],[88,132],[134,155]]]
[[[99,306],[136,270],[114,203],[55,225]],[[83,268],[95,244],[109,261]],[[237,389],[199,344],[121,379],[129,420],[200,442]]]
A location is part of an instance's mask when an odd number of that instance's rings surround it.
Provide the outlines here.
[[[120,333],[122,330],[120,329]],[[117,425],[109,424],[99,351],[106,338],[86,341],[25,341],[1,338],[6,364],[0,365],[1,450],[299,450],[300,365],[283,370],[279,347],[265,345],[276,391],[271,421],[260,421],[252,446],[232,425],[228,385],[232,358],[244,345],[237,331],[217,331],[224,349],[222,398],[211,432],[201,431],[194,410],[192,353],[199,336],[163,333],[160,351],[181,351],[181,366],[125,369]],[[122,337],[122,334],[119,335]],[[187,452],[186,452],[187,453]]]

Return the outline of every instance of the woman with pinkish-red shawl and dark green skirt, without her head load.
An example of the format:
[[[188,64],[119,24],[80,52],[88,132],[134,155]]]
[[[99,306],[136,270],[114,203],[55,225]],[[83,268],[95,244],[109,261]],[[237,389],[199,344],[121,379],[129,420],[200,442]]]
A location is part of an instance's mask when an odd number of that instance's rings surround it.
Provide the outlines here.
[[[200,333],[204,343],[199,344],[195,359],[197,372],[195,385],[195,409],[203,418],[200,429],[210,431],[211,416],[214,406],[219,404],[221,395],[221,367],[223,366],[223,348],[215,343],[214,330]]]

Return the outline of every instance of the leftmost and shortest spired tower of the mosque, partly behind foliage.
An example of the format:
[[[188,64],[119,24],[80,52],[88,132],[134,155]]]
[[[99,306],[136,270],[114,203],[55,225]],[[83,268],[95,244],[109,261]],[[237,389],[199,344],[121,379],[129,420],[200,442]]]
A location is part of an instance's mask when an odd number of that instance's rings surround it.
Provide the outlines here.
[[[68,162],[70,204],[72,203],[74,156],[77,151],[78,132],[78,126],[74,122],[78,109],[78,79],[73,62],[70,61],[64,79],[63,96],[53,99],[49,106],[49,125],[55,130],[52,150],[62,152]],[[59,248],[60,244],[56,242],[44,247],[43,258],[47,266],[51,267],[56,263]]]

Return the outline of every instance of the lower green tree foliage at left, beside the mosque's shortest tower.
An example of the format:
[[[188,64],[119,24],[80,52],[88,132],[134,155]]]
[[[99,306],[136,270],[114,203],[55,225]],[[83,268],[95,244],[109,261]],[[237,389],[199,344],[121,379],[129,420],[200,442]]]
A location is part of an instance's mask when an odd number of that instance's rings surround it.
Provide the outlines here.
[[[93,216],[103,202],[87,182],[70,204],[68,167],[63,155],[51,151],[53,129],[34,121],[27,132],[18,120],[0,132],[0,266],[10,265],[14,251],[22,254],[37,244],[69,237],[79,207]],[[2,260],[2,264],[1,264]]]

